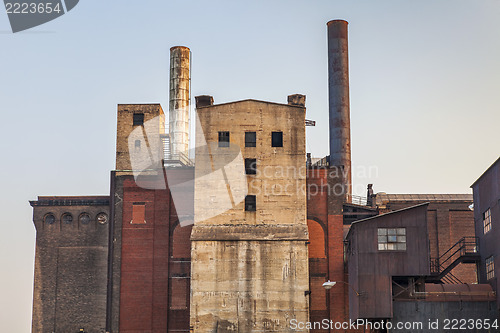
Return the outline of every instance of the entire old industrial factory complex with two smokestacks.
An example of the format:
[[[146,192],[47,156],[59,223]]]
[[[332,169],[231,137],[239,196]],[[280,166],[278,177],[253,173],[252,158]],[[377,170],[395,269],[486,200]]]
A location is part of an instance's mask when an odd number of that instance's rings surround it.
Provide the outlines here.
[[[476,235],[498,217],[488,186],[500,164],[473,185],[474,211],[468,194],[370,184],[353,196],[347,22],[327,31],[330,154],[314,162],[306,96],[197,96],[190,120],[191,53],[171,48],[168,120],[160,104],[118,105],[110,195],[30,202],[33,332],[368,332],[291,324],[498,317],[494,224]]]

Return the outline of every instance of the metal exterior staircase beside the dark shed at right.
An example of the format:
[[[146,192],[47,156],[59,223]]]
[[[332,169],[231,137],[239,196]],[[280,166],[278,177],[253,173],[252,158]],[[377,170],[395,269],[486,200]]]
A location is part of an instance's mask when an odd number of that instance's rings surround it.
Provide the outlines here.
[[[481,260],[479,255],[479,238],[463,237],[439,258],[431,258],[431,276],[428,282],[434,283],[462,283],[451,273],[459,264],[477,264]]]

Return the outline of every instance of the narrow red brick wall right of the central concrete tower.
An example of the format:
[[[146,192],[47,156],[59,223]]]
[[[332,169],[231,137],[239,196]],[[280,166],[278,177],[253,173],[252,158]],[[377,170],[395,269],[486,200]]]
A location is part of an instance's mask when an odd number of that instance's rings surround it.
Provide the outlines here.
[[[328,168],[309,169],[307,173],[311,322],[321,322],[323,319],[333,322],[349,321],[349,287],[338,283],[326,291],[322,286],[328,280],[347,282],[344,266],[343,198],[329,191],[338,181],[333,174]],[[325,244],[326,251],[324,258],[319,253],[319,244],[322,243]],[[325,330],[311,330],[311,333],[315,332]]]

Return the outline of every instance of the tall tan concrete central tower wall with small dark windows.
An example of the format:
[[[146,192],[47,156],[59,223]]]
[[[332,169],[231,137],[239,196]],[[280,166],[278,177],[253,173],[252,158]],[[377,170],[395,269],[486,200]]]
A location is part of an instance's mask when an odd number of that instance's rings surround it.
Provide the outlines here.
[[[210,148],[196,152],[191,326],[290,331],[291,319],[308,319],[305,108],[246,100],[197,113],[197,146],[206,140]],[[230,133],[231,147],[217,147],[219,131]],[[256,132],[255,147],[245,147],[247,131]],[[271,146],[276,131],[283,147]],[[244,176],[241,163],[231,164],[240,149],[241,161],[257,160],[257,174]],[[245,211],[246,191],[256,196],[256,211]]]

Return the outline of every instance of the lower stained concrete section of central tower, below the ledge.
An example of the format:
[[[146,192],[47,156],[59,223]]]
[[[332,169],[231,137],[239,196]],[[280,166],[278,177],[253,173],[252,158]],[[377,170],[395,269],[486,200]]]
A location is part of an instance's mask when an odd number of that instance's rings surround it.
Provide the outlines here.
[[[195,332],[289,332],[290,319],[307,321],[303,241],[196,241],[192,252]]]

